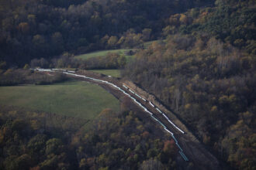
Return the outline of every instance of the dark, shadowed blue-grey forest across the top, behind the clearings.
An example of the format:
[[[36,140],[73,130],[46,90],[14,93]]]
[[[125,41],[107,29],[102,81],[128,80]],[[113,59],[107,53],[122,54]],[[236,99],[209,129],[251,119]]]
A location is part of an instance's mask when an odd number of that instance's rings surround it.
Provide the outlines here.
[[[155,39],[169,15],[212,2],[2,0],[0,59],[21,66],[30,59],[49,58],[64,51],[106,49],[112,36],[110,45],[118,40],[122,44],[129,30],[144,32],[145,40]],[[148,32],[152,36],[145,37]]]

